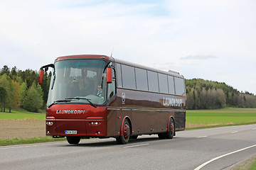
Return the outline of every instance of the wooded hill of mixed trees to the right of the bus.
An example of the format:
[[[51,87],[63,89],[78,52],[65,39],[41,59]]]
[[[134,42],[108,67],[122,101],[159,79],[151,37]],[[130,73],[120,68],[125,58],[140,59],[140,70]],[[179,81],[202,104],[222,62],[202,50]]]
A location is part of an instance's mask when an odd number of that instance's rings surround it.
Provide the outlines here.
[[[186,79],[188,109],[256,108],[256,96],[218,81]]]

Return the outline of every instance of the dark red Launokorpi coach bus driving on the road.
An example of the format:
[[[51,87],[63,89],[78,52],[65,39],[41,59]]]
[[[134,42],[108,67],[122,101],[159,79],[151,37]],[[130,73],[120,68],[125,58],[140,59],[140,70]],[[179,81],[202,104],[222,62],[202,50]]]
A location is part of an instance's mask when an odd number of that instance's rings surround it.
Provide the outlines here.
[[[46,135],[114,137],[127,144],[138,135],[171,139],[185,129],[186,90],[178,72],[164,72],[105,55],[58,57],[46,109]]]

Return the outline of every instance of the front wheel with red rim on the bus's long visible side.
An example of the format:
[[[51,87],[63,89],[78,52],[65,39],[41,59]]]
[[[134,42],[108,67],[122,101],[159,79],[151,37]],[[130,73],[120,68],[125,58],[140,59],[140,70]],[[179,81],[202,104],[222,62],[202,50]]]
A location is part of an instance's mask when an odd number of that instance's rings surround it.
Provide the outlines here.
[[[131,125],[129,124],[129,121],[125,119],[122,125],[122,135],[116,138],[118,144],[125,145],[129,142],[129,137],[131,134],[130,127]]]

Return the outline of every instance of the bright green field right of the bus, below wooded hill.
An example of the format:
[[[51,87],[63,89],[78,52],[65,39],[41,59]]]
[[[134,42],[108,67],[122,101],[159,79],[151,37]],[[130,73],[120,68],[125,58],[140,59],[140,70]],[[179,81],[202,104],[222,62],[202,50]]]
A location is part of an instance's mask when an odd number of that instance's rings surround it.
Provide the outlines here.
[[[232,125],[256,123],[256,108],[223,108],[187,111],[186,123],[194,125]]]

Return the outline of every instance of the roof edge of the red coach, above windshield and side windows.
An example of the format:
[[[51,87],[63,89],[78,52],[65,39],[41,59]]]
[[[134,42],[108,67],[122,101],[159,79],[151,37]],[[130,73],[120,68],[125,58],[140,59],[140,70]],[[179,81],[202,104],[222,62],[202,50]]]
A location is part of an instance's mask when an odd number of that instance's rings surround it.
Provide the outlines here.
[[[119,60],[117,58],[109,57],[107,55],[68,55],[68,56],[63,56],[63,57],[57,57],[55,62],[58,61],[58,60],[69,60],[69,59],[74,60],[74,59],[82,59],[82,58],[98,58],[98,59],[110,60],[111,62],[117,62],[119,64],[125,64],[125,65],[129,65],[129,66],[132,66],[132,67],[137,67],[137,68],[140,68],[140,69],[146,69],[146,70],[149,70],[149,71],[152,71],[152,72],[159,72],[159,73],[162,73],[162,74],[169,74],[171,76],[180,77],[180,78],[184,79],[184,77],[181,74],[179,74],[178,72],[174,72],[172,70],[169,70],[168,72],[166,72],[166,71],[163,71],[161,69],[155,69],[153,67],[146,67],[146,66],[141,65],[141,64],[136,64],[136,63],[127,62],[127,61],[124,61],[124,60]]]

